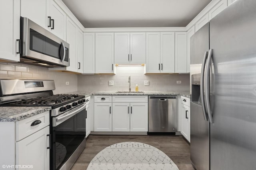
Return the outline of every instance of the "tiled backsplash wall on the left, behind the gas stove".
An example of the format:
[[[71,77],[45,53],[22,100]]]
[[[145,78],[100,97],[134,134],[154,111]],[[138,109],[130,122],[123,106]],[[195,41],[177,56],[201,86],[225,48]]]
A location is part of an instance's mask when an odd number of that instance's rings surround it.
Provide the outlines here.
[[[77,75],[22,63],[0,63],[0,79],[54,80],[54,94],[77,91]],[[69,81],[70,85],[66,85]]]

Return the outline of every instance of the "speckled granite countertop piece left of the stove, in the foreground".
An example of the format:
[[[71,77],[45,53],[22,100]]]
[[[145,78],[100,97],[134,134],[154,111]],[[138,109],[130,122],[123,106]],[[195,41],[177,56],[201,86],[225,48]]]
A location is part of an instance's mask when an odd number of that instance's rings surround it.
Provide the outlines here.
[[[52,109],[52,107],[0,107],[0,122],[1,121],[20,121],[28,117],[38,115],[45,111]]]

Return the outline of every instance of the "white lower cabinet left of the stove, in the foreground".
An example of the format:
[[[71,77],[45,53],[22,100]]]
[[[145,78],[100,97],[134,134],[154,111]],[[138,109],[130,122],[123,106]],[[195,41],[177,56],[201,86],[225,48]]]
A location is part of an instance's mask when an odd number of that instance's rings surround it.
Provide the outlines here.
[[[49,125],[50,111],[16,122],[0,122],[0,129],[2,129],[0,150],[4,153],[0,154],[2,165],[12,170],[49,170]],[[20,167],[8,168],[7,165],[20,165]]]

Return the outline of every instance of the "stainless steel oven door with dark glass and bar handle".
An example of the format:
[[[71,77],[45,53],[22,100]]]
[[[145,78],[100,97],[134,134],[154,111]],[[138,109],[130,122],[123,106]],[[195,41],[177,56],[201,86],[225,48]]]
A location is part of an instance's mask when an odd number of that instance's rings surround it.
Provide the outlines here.
[[[52,118],[53,170],[70,169],[85,148],[86,104]]]

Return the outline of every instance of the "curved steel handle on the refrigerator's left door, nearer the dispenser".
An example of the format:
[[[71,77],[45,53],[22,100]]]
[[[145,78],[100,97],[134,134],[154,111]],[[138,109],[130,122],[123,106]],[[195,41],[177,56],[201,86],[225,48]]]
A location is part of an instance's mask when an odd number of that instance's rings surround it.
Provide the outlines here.
[[[206,64],[206,58],[207,58],[208,52],[206,51],[204,53],[204,59],[202,63],[202,69],[201,69],[201,77],[200,77],[200,96],[202,100],[202,107],[203,107],[203,113],[204,113],[204,120],[208,121],[208,116],[206,113],[206,108],[205,108],[205,102],[204,102],[204,70],[205,70],[205,64]]]

